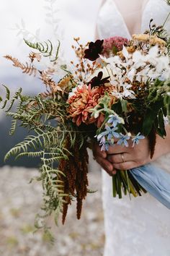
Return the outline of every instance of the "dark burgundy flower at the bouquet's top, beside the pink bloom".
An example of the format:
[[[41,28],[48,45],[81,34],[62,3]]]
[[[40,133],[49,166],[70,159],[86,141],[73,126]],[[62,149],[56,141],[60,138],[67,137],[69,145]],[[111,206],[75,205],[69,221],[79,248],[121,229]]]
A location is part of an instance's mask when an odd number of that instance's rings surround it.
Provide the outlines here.
[[[96,40],[96,42],[89,43],[89,49],[84,51],[84,58],[90,61],[95,61],[99,58],[99,54],[102,53],[104,40]]]

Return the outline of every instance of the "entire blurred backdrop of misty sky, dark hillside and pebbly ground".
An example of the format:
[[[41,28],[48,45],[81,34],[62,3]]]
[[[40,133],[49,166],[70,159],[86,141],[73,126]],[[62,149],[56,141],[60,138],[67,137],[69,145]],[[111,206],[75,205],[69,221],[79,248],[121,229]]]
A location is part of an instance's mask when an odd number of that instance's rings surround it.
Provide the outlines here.
[[[25,93],[36,94],[43,90],[39,80],[32,79],[3,58],[12,55],[25,61],[30,52],[23,38],[28,40],[57,40],[62,42],[64,56],[74,58],[73,37],[82,43],[94,39],[95,22],[100,0],[1,0],[0,7],[0,84],[15,91],[22,87]],[[0,86],[0,95],[4,89]],[[4,155],[17,142],[27,136],[18,127],[9,136],[11,119],[0,112],[0,255],[1,256],[100,256],[103,252],[104,231],[101,202],[101,174],[99,166],[90,160],[90,189],[98,190],[84,203],[81,221],[76,221],[75,205],[68,212],[68,221],[56,228],[49,219],[55,234],[55,244],[41,232],[33,233],[34,218],[41,205],[41,185],[29,184],[36,176],[37,161],[21,158],[4,163]],[[95,205],[95,208],[94,208]]]

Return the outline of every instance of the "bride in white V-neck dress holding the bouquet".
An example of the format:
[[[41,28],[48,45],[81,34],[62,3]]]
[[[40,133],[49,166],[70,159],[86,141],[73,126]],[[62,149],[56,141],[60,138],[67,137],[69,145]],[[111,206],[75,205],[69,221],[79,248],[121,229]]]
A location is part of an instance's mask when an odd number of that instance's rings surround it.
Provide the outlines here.
[[[131,35],[148,29],[153,18],[156,25],[164,24],[170,6],[166,0],[105,0],[97,18],[97,38]],[[170,20],[166,22],[170,33]],[[165,139],[157,137],[153,164],[170,172],[170,127]],[[104,256],[169,256],[170,212],[148,193],[142,197],[112,197],[115,169],[130,169],[151,162],[148,139],[135,148],[110,147],[108,153],[94,145],[94,157],[104,168],[103,206],[106,242]],[[108,174],[109,175],[108,175]]]

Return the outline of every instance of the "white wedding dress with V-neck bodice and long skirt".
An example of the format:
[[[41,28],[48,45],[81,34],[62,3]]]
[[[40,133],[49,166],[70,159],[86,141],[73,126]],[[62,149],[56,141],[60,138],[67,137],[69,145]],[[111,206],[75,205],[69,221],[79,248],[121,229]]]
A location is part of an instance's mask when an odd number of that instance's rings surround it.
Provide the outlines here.
[[[126,2],[128,4],[128,0]],[[148,0],[138,32],[148,29],[151,18],[157,25],[163,24],[169,12],[165,0]],[[170,22],[166,28],[170,33]],[[97,33],[101,39],[114,35],[130,38],[128,26],[114,0],[106,0],[99,10]],[[170,155],[164,155],[154,163],[170,172]],[[168,208],[148,193],[132,200],[128,196],[121,200],[113,198],[111,177],[102,171],[102,179],[106,234],[104,256],[170,256]]]

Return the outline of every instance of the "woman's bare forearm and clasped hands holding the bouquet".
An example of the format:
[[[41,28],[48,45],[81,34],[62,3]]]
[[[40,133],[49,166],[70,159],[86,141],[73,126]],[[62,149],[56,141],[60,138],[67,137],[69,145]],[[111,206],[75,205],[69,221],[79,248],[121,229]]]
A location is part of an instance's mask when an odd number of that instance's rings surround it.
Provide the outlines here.
[[[160,136],[156,136],[156,148],[153,158],[150,158],[150,150],[148,146],[148,138],[140,140],[138,145],[132,148],[132,142],[129,147],[125,148],[120,145],[114,145],[110,147],[109,151],[101,152],[97,143],[94,145],[94,157],[97,162],[112,175],[115,173],[115,169],[130,169],[138,166],[143,166],[146,163],[151,163],[159,158],[161,155],[170,153],[170,126],[166,126],[166,137],[163,139]]]

